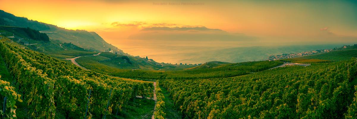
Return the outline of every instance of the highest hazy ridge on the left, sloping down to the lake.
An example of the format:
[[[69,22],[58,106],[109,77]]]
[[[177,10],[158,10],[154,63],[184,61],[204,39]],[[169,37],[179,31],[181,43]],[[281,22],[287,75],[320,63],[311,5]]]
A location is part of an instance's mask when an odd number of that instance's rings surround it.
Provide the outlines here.
[[[0,25],[2,26],[18,26],[23,28],[31,28],[38,30],[41,33],[46,33],[51,40],[59,40],[62,43],[72,43],[81,48],[91,51],[109,51],[113,50],[118,54],[125,54],[122,50],[107,43],[95,32],[85,30],[67,30],[59,28],[55,25],[41,23],[27,18],[17,17],[10,13],[0,10]]]

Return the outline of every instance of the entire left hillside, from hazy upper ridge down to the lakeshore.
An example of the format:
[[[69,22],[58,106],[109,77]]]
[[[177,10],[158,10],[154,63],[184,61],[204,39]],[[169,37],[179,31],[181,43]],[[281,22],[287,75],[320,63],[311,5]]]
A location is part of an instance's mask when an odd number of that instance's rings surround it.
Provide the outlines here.
[[[11,39],[23,48],[28,48],[55,58],[66,59],[82,55],[93,55],[102,52],[100,56],[82,57],[77,59],[116,69],[185,69],[194,65],[172,65],[157,63],[152,59],[134,57],[108,44],[95,32],[85,30],[67,30],[55,25],[41,23],[27,18],[17,17],[0,10],[0,35]],[[109,53],[110,52],[110,53]],[[89,59],[89,60],[87,60]],[[91,64],[95,65],[95,64]]]

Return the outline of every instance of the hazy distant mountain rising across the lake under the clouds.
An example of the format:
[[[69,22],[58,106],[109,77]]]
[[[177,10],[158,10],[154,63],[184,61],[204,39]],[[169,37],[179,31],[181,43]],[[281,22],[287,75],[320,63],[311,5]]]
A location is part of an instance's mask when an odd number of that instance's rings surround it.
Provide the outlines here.
[[[256,40],[254,36],[230,34],[221,29],[201,27],[149,27],[128,39],[142,40],[177,40],[177,41],[247,41]]]

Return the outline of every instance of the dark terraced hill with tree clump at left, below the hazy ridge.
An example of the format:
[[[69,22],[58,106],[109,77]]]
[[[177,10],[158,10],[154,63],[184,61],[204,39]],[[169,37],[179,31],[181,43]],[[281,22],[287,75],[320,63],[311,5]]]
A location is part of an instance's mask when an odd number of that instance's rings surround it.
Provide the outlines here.
[[[30,28],[0,26],[0,36],[5,36],[23,48],[45,53],[56,58],[71,58],[79,55],[95,54],[95,51],[80,48],[72,43],[61,43],[49,39],[45,33]]]

